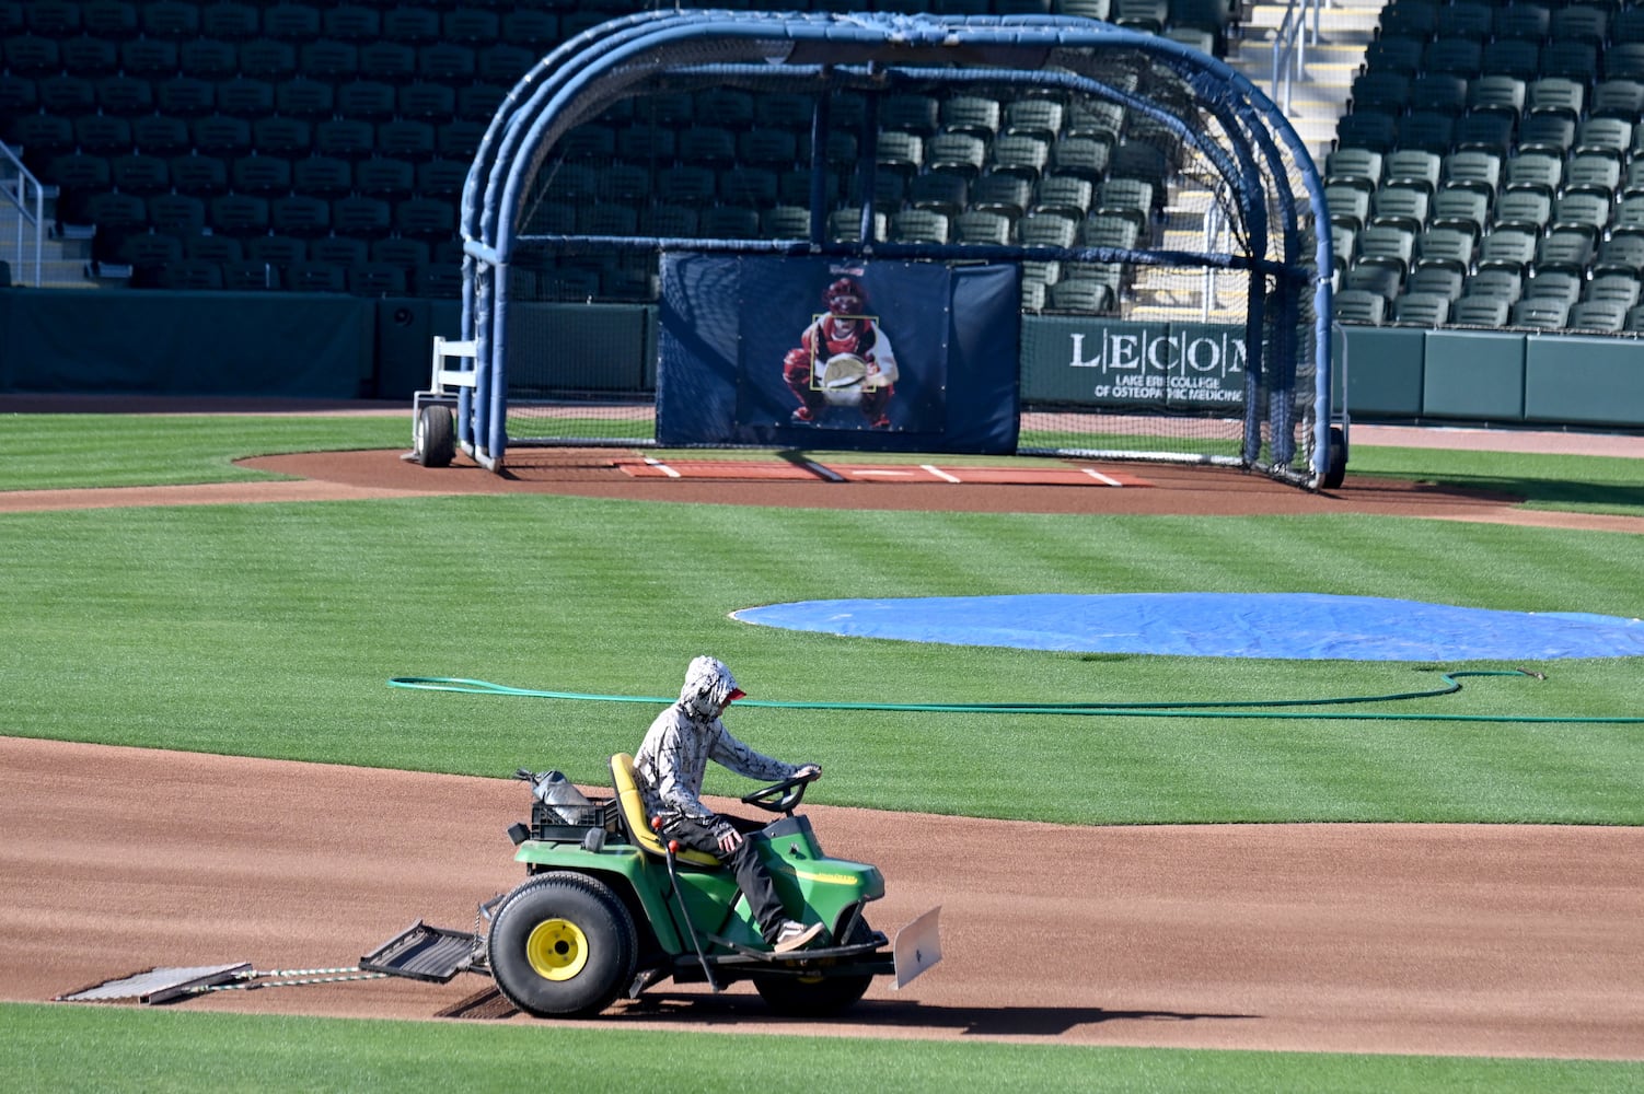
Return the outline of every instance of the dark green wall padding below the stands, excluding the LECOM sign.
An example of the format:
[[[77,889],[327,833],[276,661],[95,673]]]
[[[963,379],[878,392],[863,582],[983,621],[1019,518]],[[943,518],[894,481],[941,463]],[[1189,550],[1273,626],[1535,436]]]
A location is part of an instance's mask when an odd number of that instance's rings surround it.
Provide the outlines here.
[[[531,342],[575,360],[579,386],[653,383],[654,309],[531,309]],[[434,335],[455,337],[459,322],[450,301],[7,289],[0,393],[409,399],[427,384]],[[1065,398],[1070,322],[1024,319],[1024,399]],[[1060,337],[1034,337],[1039,325]],[[1037,360],[1046,353],[1057,360]],[[1644,427],[1644,343],[1632,338],[1345,327],[1335,353],[1356,419]]]

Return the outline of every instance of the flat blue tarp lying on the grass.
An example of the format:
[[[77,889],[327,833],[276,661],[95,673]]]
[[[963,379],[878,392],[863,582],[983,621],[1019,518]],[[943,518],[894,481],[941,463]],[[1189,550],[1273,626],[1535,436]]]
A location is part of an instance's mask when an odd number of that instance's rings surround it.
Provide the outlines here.
[[[812,600],[732,618],[852,637],[1180,657],[1552,660],[1644,657],[1644,621],[1323,593]]]

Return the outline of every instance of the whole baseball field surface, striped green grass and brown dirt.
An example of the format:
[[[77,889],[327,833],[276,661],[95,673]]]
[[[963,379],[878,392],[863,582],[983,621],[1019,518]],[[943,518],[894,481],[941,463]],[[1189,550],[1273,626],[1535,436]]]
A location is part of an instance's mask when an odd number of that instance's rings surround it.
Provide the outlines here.
[[[1644,439],[1356,429],[1343,490],[1309,494],[1151,467],[1136,488],[648,480],[600,452],[496,478],[401,462],[408,412],[104,409],[0,399],[12,1089],[1644,1084],[1636,659],[1074,654],[730,618],[1200,591],[1636,619]],[[1526,672],[1330,716],[735,708],[743,739],[822,764],[806,807],[830,853],[884,871],[875,926],[944,908],[944,963],[830,1022],[694,986],[541,1022],[482,977],[53,1002],[470,928],[521,876],[513,770],[608,785],[654,706],[388,680],[663,696],[700,652],[753,698],[817,705],[1310,701]]]

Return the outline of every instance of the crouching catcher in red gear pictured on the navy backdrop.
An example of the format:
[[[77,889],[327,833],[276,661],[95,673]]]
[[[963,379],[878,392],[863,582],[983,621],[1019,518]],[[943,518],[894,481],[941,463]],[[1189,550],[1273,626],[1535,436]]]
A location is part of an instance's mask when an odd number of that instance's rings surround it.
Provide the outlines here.
[[[865,315],[866,297],[855,278],[822,291],[827,312],[783,358],[783,379],[799,399],[792,421],[814,422],[829,406],[855,406],[875,429],[891,424],[886,407],[896,393],[896,353],[878,320]]]

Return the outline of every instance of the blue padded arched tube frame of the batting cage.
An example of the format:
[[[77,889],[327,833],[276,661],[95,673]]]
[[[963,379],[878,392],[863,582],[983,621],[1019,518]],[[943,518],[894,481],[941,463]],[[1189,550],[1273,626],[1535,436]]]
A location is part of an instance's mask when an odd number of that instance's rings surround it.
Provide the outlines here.
[[[717,46],[727,59],[715,64],[667,69],[646,66],[671,48]],[[963,49],[963,54],[960,53]],[[1233,158],[1228,159],[1207,135],[1187,126],[1179,117],[1144,99],[1111,87],[1098,71],[1044,71],[1052,49],[1126,49],[1149,54],[1190,80],[1200,103],[1221,123]],[[968,67],[949,67],[955,59],[975,59]],[[1295,130],[1272,100],[1225,62],[1189,49],[1157,34],[1131,31],[1110,23],[1074,16],[924,16],[888,13],[773,13],[773,11],[643,11],[602,23],[566,41],[539,61],[510,90],[480,141],[462,192],[459,230],[464,238],[462,337],[472,338],[475,353],[475,398],[467,389],[459,394],[457,439],[482,465],[500,468],[506,450],[506,314],[508,263],[521,243],[546,237],[518,232],[523,197],[547,151],[561,135],[592,118],[631,87],[658,71],[730,74],[819,76],[824,66],[832,72],[868,74],[880,79],[1036,82],[1067,87],[1120,102],[1128,110],[1143,112],[1174,128],[1223,172],[1245,217],[1251,256],[1192,255],[1164,251],[1120,251],[1113,248],[988,248],[967,245],[891,245],[876,243],[871,251],[883,256],[916,258],[1065,258],[1082,261],[1189,263],[1202,266],[1248,268],[1251,278],[1248,324],[1263,330],[1268,278],[1294,278],[1300,264],[1300,230],[1295,197],[1289,186],[1268,181],[1289,179],[1284,166],[1287,151],[1307,189],[1315,223],[1328,223],[1323,182]],[[820,156],[827,133],[827,99],[819,97],[812,125],[812,156]],[[858,245],[822,241],[824,202],[820,176],[812,187],[812,225],[807,241],[766,241],[750,246],[746,240],[613,240],[597,237],[554,238],[556,243],[585,246],[656,246],[679,245],[695,250],[764,250],[809,253],[861,253]],[[1282,215],[1284,261],[1264,258],[1268,250],[1268,204],[1277,200]],[[871,215],[871,197],[865,200],[865,217]],[[1327,471],[1330,452],[1330,314],[1332,314],[1332,240],[1318,232],[1315,245],[1315,435],[1314,483]],[[998,253],[995,253],[998,251]],[[1294,317],[1294,296],[1281,292],[1281,319]],[[1294,325],[1294,320],[1291,322]],[[1282,324],[1281,324],[1282,327]],[[1286,338],[1291,335],[1286,333]],[[1261,379],[1261,338],[1251,345],[1248,383]],[[1282,342],[1281,342],[1282,348]],[[1281,399],[1282,401],[1282,399]],[[1249,399],[1251,414],[1256,401]],[[1289,414],[1286,406],[1282,414]],[[1246,422],[1245,462],[1256,458],[1254,422]],[[1279,425],[1274,421],[1274,425]],[[1277,435],[1277,430],[1276,430]],[[1289,429],[1284,430],[1289,439]],[[1286,444],[1289,444],[1286,440]],[[1287,463],[1291,453],[1277,452]]]

